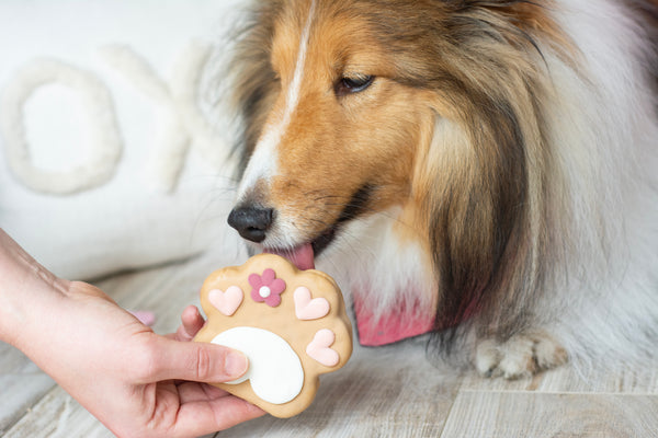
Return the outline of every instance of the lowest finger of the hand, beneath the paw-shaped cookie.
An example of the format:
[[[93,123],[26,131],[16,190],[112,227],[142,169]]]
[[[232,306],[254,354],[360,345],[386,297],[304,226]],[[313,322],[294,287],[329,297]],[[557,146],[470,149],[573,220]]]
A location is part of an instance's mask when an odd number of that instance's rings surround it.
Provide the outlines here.
[[[179,436],[203,436],[225,430],[265,412],[235,395],[180,406],[175,430]]]

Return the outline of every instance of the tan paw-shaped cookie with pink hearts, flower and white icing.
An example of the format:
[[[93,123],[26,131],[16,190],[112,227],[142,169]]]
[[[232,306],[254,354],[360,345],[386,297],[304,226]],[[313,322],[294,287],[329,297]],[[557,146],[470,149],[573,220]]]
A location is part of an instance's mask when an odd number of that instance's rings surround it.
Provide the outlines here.
[[[242,378],[215,385],[277,417],[304,411],[319,374],[336,371],[352,354],[352,326],[336,281],[277,255],[214,272],[203,284],[201,304],[207,323],[194,341],[249,358]]]

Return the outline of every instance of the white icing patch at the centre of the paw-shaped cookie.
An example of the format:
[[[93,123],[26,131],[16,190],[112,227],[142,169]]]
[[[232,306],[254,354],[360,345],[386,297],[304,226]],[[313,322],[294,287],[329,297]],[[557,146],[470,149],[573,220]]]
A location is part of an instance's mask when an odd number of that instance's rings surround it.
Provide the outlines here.
[[[273,404],[287,403],[302,392],[302,361],[277,334],[257,327],[234,327],[219,333],[212,343],[240,350],[249,358],[245,376],[227,383],[249,380],[256,395]]]

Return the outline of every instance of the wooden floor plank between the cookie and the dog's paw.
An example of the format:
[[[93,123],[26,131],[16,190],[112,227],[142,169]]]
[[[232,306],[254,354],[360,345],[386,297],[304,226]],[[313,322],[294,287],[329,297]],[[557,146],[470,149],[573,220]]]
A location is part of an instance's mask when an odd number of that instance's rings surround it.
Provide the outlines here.
[[[327,374],[315,402],[288,419],[263,417],[219,434],[230,437],[438,437],[458,381],[426,360],[423,345],[358,347]]]

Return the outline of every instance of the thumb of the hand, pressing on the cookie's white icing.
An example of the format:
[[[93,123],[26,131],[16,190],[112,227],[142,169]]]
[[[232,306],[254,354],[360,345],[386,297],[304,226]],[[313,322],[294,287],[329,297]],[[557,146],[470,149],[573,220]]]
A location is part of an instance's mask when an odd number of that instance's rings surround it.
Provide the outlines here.
[[[195,382],[229,382],[249,368],[242,353],[220,345],[180,342],[158,336],[150,355],[149,379],[190,380]]]

